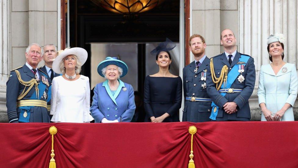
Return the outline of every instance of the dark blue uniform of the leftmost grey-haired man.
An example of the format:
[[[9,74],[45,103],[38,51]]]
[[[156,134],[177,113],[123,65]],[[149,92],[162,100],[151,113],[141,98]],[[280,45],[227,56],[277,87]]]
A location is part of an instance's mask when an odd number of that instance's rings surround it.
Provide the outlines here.
[[[20,84],[18,80],[16,71],[20,72],[21,79],[25,82],[30,81],[32,78],[35,78],[34,73],[27,67],[27,65],[23,65],[17,69],[14,69],[9,74],[9,79],[6,83],[6,107],[7,107],[7,115],[9,122],[18,122],[20,119],[20,115],[22,118],[22,122],[49,122],[49,113],[47,108],[41,106],[17,106],[17,97],[24,91],[25,86]],[[35,85],[31,88],[31,90],[27,93],[27,95],[21,100],[43,100],[47,101],[48,98],[48,89],[49,86],[42,82],[42,77],[46,78],[47,75],[38,69],[39,73],[39,98],[36,98]],[[27,91],[29,87],[27,86],[25,91]],[[28,112],[28,116],[23,118],[24,111]],[[30,113],[30,114],[29,114]],[[26,121],[24,121],[26,120]],[[20,121],[20,122],[21,122]]]

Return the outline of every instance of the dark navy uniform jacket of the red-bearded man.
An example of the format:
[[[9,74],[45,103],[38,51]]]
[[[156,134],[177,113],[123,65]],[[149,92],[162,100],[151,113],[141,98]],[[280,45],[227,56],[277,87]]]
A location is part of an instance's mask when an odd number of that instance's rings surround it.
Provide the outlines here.
[[[186,97],[197,97],[210,99],[206,92],[206,88],[202,87],[206,83],[201,80],[202,73],[207,70],[210,64],[210,59],[205,58],[199,66],[198,71],[195,73],[195,62],[183,68],[183,91],[184,99]],[[206,76],[207,78],[207,76]],[[211,102],[210,101],[196,101],[191,102],[185,100],[182,121],[190,122],[205,122],[210,121]]]

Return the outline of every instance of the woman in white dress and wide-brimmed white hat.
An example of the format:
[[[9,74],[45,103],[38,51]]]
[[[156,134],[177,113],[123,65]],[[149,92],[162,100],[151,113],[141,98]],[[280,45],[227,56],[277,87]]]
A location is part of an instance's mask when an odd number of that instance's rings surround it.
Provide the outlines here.
[[[89,111],[89,78],[79,74],[87,57],[87,51],[79,47],[59,51],[53,71],[62,76],[55,77],[52,82],[51,121],[83,123],[93,120]]]

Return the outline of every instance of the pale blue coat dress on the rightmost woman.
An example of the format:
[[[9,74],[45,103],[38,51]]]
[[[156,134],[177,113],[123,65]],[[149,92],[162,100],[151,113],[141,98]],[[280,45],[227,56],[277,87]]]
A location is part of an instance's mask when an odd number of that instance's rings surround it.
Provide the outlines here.
[[[270,64],[262,65],[259,77],[259,104],[265,103],[272,113],[281,110],[285,103],[292,105],[282,121],[294,121],[293,106],[297,97],[298,79],[294,64],[286,63],[275,75]],[[266,121],[263,113],[261,121]]]

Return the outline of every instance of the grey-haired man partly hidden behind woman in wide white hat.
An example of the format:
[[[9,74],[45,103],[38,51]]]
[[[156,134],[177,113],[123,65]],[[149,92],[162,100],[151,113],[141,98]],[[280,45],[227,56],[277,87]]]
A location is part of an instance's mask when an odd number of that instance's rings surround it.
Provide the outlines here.
[[[57,48],[53,44],[45,44],[43,47],[43,55],[42,59],[45,61],[45,65],[41,67],[40,69],[42,72],[45,72],[45,74],[48,76],[49,81],[49,90],[48,90],[48,99],[47,99],[47,107],[48,111],[51,110],[51,89],[52,89],[52,80],[54,77],[60,76],[60,74],[55,73],[52,69],[52,64],[54,59],[57,57]],[[52,115],[50,115],[51,117]]]

